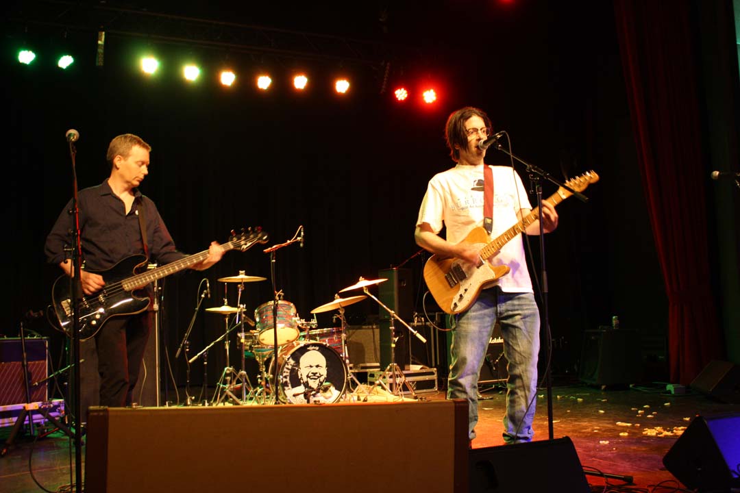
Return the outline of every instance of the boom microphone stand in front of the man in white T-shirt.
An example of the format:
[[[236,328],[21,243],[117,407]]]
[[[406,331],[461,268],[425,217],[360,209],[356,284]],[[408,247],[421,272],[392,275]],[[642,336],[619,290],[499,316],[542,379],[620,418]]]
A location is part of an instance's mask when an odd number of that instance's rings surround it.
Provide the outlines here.
[[[550,440],[554,439],[554,429],[553,429],[553,399],[552,399],[552,370],[550,365],[550,359],[551,359],[551,350],[552,350],[552,344],[551,344],[551,333],[550,333],[550,312],[548,307],[548,273],[547,269],[545,268],[545,231],[544,226],[542,225],[542,183],[540,183],[541,178],[545,178],[545,180],[550,181],[551,183],[556,184],[557,186],[562,186],[562,188],[565,188],[566,190],[570,191],[573,196],[578,197],[579,200],[582,202],[587,202],[588,197],[585,197],[585,195],[573,190],[569,186],[565,185],[565,183],[560,183],[558,180],[556,180],[554,177],[551,176],[547,171],[544,171],[537,166],[534,166],[533,164],[527,163],[525,160],[522,160],[521,158],[514,155],[511,151],[508,151],[504,149],[504,147],[500,143],[495,143],[494,147],[503,152],[504,154],[507,154],[509,157],[519,161],[519,163],[522,163],[527,170],[527,173],[529,175],[529,179],[531,180],[531,183],[534,184],[535,190],[536,190],[536,197],[537,197],[537,214],[539,219],[539,262],[540,262],[540,279],[542,279],[542,319],[544,319],[544,323],[542,324],[542,327],[540,327],[540,331],[544,330],[545,332],[545,354],[548,355],[548,364],[545,370],[545,385],[547,386],[547,392],[548,392],[548,436]]]

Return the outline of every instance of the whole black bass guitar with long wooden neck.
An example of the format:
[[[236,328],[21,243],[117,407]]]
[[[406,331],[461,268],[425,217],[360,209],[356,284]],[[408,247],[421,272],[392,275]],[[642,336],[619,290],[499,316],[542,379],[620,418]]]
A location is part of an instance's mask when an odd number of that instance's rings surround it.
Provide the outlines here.
[[[229,242],[223,243],[224,252],[239,248],[246,251],[255,243],[266,243],[268,235],[261,228],[242,231],[232,236]],[[175,262],[162,265],[147,271],[148,260],[144,255],[129,256],[106,271],[90,271],[103,276],[105,286],[97,293],[83,295],[79,302],[77,319],[79,320],[81,341],[90,339],[101,330],[112,316],[141,313],[149,307],[149,296],[141,291],[150,282],[170,274],[182,271],[192,265],[203,262],[208,251],[186,256]],[[133,275],[131,275],[133,273]],[[59,326],[69,336],[73,330],[73,299],[71,295],[71,278],[62,275],[56,279],[52,288],[52,304],[59,321]],[[137,293],[138,291],[138,293]]]

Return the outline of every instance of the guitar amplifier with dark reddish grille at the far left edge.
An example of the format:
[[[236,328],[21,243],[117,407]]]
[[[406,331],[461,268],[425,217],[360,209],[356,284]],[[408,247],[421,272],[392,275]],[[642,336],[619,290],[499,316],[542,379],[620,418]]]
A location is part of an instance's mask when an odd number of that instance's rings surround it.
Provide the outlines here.
[[[26,338],[29,385],[47,378],[47,338]],[[0,339],[0,406],[25,404],[23,348],[19,337]],[[47,400],[47,385],[30,387],[30,402]]]

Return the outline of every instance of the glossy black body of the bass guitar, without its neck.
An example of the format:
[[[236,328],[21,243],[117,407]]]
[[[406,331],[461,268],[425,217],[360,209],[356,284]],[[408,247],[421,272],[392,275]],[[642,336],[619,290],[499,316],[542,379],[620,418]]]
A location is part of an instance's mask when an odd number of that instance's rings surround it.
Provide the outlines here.
[[[132,255],[106,271],[90,271],[103,276],[105,287],[90,296],[82,296],[80,300],[78,320],[81,341],[95,336],[110,317],[141,313],[149,307],[149,297],[145,291],[139,293],[141,296],[136,296],[136,291],[124,290],[119,282],[146,268],[147,257]],[[71,281],[69,276],[60,276],[52,288],[54,311],[65,333],[70,333],[73,323]]]

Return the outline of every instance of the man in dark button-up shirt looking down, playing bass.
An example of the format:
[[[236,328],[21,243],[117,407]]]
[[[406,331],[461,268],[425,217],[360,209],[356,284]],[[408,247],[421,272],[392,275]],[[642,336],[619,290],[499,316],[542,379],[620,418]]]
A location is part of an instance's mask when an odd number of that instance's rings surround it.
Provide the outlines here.
[[[106,271],[129,256],[144,255],[149,262],[158,264],[167,264],[186,256],[175,249],[175,243],[154,202],[138,190],[144,177],[149,174],[151,149],[141,137],[118,135],[108,146],[110,177],[98,186],[78,192],[84,262],[80,280],[85,295],[98,293],[106,283],[104,276],[94,271]],[[67,276],[73,275],[67,251],[73,246],[71,232],[75,222],[72,207],[70,200],[59,214],[45,245],[47,261],[59,265]],[[143,220],[140,221],[140,217]],[[221,260],[221,256],[221,246],[212,242],[206,259],[191,268],[209,268]],[[124,407],[132,404],[132,390],[138,380],[149,339],[151,313],[145,310],[112,317],[95,334],[101,406]]]

